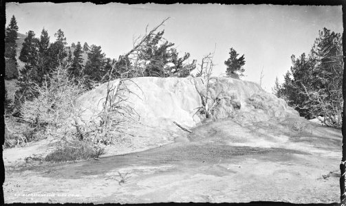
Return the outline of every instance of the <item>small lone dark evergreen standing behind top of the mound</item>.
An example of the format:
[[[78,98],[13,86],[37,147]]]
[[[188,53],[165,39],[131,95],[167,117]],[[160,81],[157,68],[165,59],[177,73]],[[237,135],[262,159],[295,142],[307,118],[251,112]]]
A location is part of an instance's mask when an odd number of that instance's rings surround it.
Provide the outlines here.
[[[239,76],[245,71],[243,68],[245,65],[244,54],[238,58],[239,54],[233,47],[230,48],[228,54],[230,54],[230,57],[225,61],[225,65],[227,66],[226,75],[239,79]]]

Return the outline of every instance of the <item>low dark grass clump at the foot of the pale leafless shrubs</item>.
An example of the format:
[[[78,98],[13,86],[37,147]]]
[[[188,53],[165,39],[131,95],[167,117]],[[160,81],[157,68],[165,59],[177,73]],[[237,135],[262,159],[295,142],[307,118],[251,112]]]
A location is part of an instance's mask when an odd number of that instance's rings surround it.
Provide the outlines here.
[[[98,158],[105,154],[105,149],[94,146],[91,141],[66,141],[54,152],[45,157],[45,161],[75,161]]]

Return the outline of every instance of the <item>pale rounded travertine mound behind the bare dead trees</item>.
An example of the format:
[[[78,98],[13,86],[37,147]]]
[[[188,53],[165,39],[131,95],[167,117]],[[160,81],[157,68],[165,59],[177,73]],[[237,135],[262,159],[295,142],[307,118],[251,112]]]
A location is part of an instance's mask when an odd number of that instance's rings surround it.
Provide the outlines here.
[[[203,120],[203,115],[195,115],[197,107],[202,105],[196,87],[202,93],[206,91],[202,78],[142,77],[133,78],[132,81],[126,83],[133,92],[128,95],[128,102],[140,116],[142,124],[175,130],[177,126],[173,122],[193,127]],[[111,84],[115,87],[118,80]],[[107,84],[102,84],[78,98],[76,104],[85,110],[83,119],[91,119],[102,110],[106,93]],[[219,99],[215,119],[240,115],[245,122],[246,119],[253,122],[297,115],[284,100],[264,92],[254,82],[219,78],[210,82],[210,93],[212,98]]]

